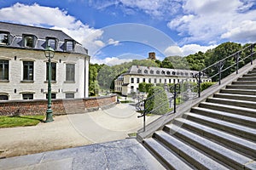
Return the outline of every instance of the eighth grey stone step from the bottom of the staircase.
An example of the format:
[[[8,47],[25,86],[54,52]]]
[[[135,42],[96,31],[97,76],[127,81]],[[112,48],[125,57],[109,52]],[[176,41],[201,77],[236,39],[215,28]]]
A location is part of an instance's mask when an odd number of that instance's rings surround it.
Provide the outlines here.
[[[251,109],[256,109],[256,102],[238,100],[238,99],[221,99],[221,98],[207,98],[207,102],[223,104],[223,105],[235,105]]]

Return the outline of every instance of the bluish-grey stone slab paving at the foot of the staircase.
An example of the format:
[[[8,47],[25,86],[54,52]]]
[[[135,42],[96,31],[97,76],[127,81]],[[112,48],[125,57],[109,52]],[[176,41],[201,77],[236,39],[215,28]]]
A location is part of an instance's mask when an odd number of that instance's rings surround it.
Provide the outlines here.
[[[91,144],[65,150],[0,159],[8,170],[161,170],[164,169],[136,139]]]

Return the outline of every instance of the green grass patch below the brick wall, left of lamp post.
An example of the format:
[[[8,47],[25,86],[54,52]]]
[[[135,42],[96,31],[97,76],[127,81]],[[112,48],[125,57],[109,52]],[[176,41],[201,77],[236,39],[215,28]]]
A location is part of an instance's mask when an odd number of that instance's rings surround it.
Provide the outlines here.
[[[35,126],[44,122],[45,116],[0,116],[0,128]]]

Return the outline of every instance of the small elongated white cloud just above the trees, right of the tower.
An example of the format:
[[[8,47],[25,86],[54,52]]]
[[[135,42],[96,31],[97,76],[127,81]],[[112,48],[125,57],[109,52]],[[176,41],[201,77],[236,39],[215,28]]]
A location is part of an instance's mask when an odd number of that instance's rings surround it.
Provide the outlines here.
[[[183,47],[178,47],[178,46],[170,46],[166,48],[165,54],[166,56],[187,56],[189,54],[195,54],[199,51],[205,53],[207,49],[212,49],[216,48],[217,45],[210,45],[210,46],[201,46],[198,44],[187,44],[183,45]]]

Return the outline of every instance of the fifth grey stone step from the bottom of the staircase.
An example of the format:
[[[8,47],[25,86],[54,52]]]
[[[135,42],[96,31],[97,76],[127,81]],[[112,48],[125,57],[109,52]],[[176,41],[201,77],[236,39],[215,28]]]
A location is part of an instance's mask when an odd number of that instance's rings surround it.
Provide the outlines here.
[[[244,127],[236,123],[226,122],[208,116],[201,116],[191,112],[183,114],[183,117],[190,121],[198,122],[209,127],[214,127],[225,132],[256,141],[256,130],[251,127]]]

